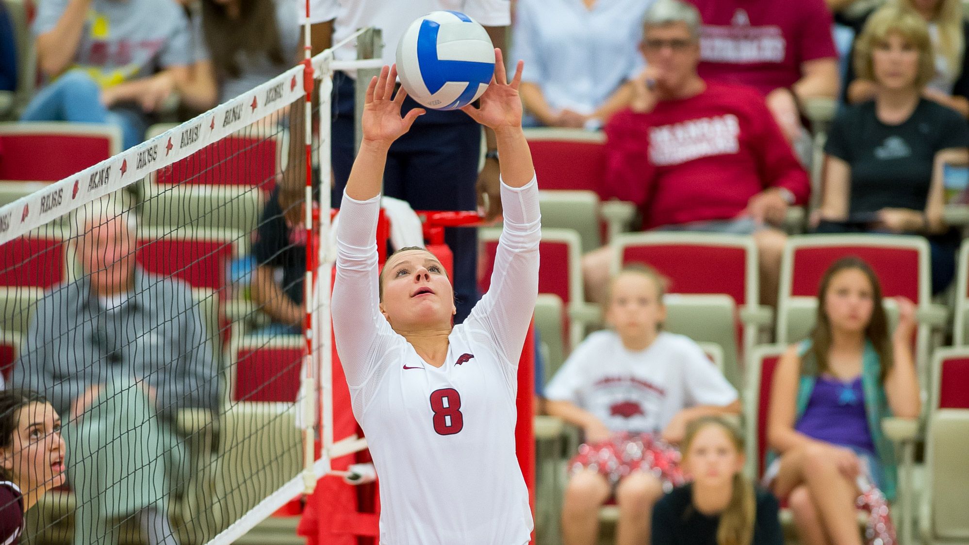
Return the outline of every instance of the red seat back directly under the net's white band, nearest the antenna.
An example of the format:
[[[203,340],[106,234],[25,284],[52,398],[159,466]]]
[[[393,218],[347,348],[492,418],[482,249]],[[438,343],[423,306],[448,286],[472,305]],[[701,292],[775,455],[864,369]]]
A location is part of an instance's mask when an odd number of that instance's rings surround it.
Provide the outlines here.
[[[254,186],[266,192],[276,187],[283,171],[282,138],[248,132],[221,138],[155,173],[158,184]]]

